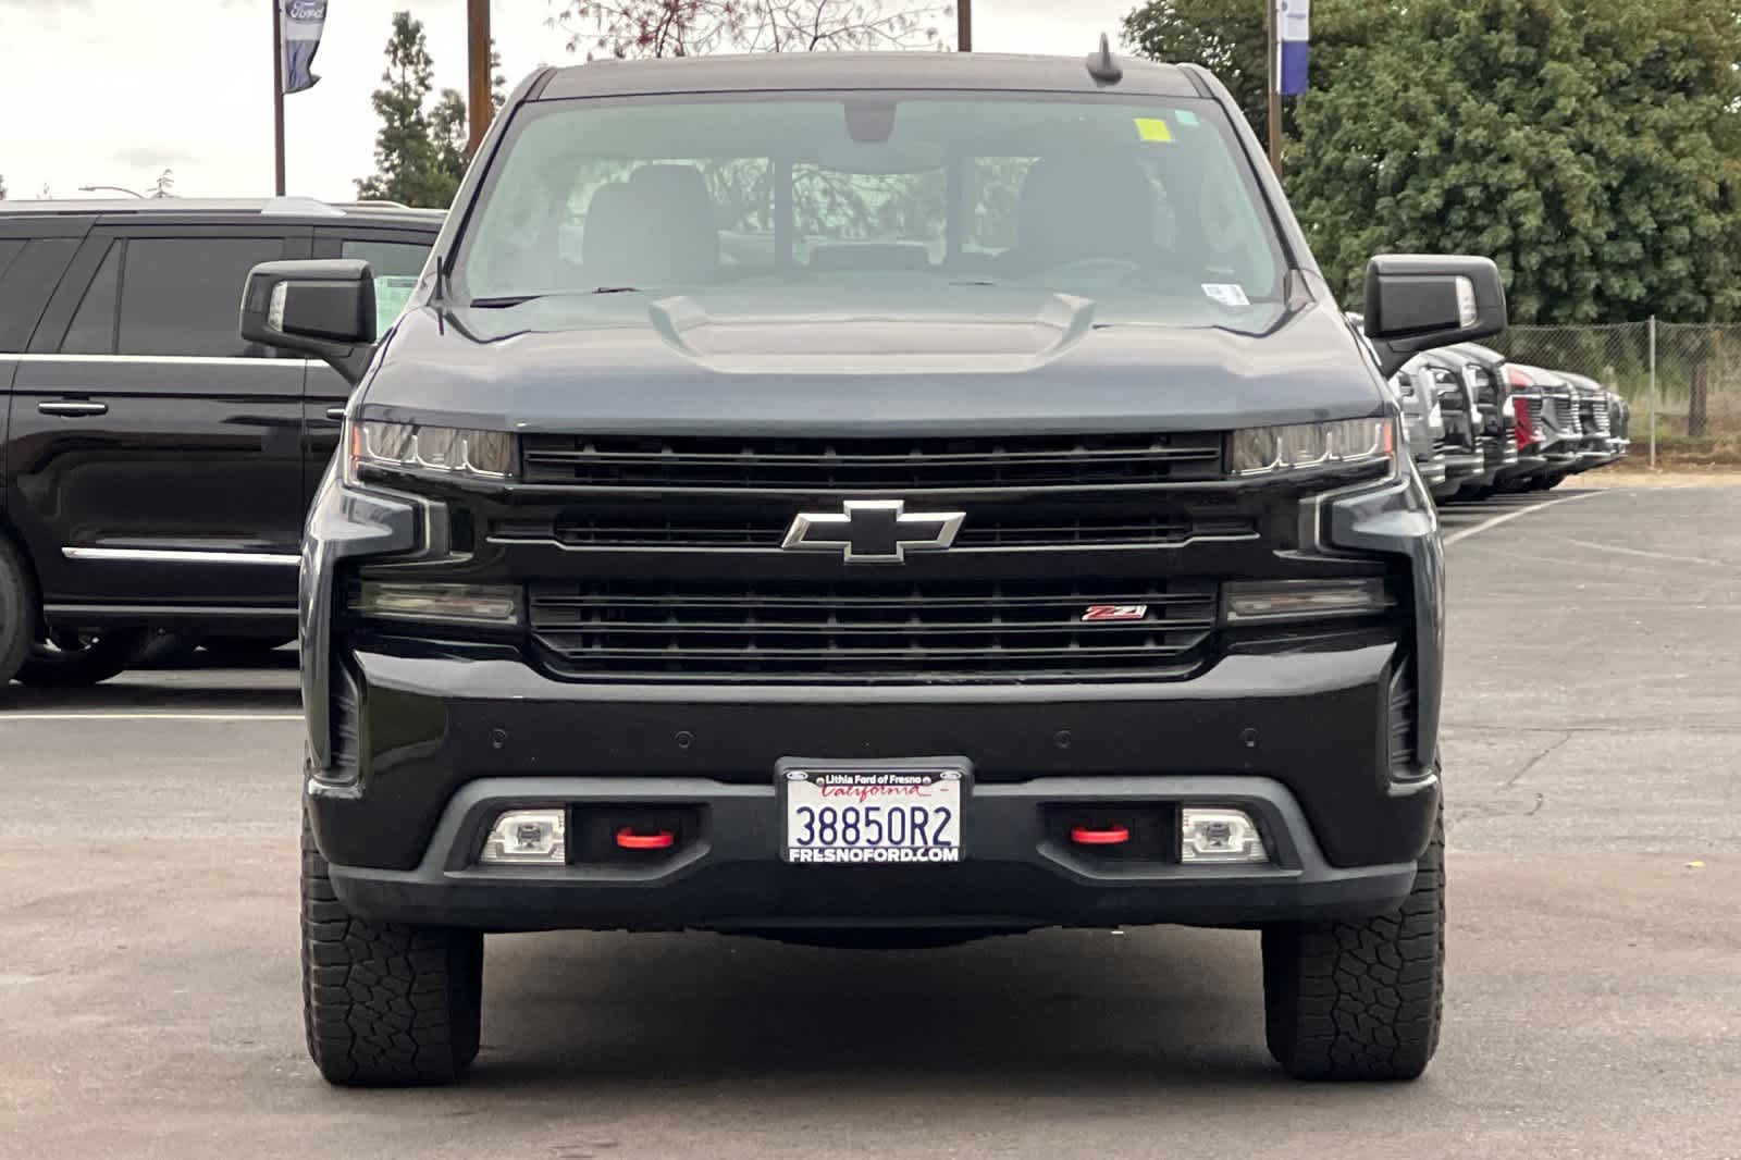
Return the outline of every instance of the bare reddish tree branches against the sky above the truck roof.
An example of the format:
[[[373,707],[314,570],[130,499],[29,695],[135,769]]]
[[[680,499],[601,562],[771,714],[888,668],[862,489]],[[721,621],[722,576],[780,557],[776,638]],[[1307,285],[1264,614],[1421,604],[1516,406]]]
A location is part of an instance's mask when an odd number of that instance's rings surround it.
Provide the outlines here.
[[[554,17],[569,52],[705,56],[938,45],[947,3],[907,0],[562,0]],[[578,24],[578,28],[576,28]]]

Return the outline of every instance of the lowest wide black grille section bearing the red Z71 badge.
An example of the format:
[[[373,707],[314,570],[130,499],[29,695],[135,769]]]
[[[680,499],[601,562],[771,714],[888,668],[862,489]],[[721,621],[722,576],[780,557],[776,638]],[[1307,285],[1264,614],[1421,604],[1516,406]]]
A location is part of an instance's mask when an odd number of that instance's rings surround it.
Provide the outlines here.
[[[1085,622],[1093,604],[1140,620]],[[1187,676],[1215,629],[1207,580],[548,582],[531,631],[564,676],[1072,679]]]

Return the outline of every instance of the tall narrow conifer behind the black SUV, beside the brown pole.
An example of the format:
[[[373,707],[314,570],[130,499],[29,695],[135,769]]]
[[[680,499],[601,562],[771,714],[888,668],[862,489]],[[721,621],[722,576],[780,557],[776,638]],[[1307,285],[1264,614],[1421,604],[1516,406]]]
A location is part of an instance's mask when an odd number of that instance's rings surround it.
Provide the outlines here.
[[[491,70],[501,66],[494,47]],[[434,106],[435,63],[430,59],[423,23],[411,12],[393,12],[393,35],[387,42],[385,87],[371,98],[381,129],[374,136],[373,178],[357,181],[357,195],[385,199],[406,206],[446,209],[465,178],[468,141],[465,98],[456,89],[442,89]],[[491,108],[500,110],[507,80],[491,77]]]

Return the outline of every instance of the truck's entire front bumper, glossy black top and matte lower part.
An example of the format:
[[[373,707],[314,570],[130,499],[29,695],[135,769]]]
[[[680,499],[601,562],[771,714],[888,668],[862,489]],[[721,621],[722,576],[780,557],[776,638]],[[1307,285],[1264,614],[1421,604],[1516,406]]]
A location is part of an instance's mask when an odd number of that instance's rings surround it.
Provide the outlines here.
[[[1177,683],[747,693],[359,651],[352,704],[334,712],[360,759],[312,775],[306,798],[346,906],[407,923],[1008,930],[1370,914],[1408,892],[1438,810],[1436,770],[1389,747],[1398,664],[1398,644],[1356,637],[1229,655]],[[780,860],[782,759],[924,754],[973,772],[963,862]],[[1106,803],[1161,819],[1243,808],[1271,860],[1118,860],[1060,836],[1060,810]],[[479,866],[494,819],[536,806],[667,808],[691,824],[649,860],[571,848],[564,866]]]

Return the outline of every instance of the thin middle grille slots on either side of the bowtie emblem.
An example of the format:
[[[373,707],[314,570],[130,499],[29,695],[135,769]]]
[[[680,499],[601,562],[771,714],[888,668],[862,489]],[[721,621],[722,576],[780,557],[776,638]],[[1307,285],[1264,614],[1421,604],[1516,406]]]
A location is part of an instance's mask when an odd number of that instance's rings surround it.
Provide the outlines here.
[[[501,521],[491,538],[501,543],[555,542],[576,549],[775,550],[789,524],[790,517],[783,514],[736,519],[695,512],[660,519],[655,512],[609,510],[557,516],[554,521]],[[975,514],[963,524],[954,549],[1179,547],[1193,540],[1254,536],[1257,521],[1250,516],[1003,512]]]

